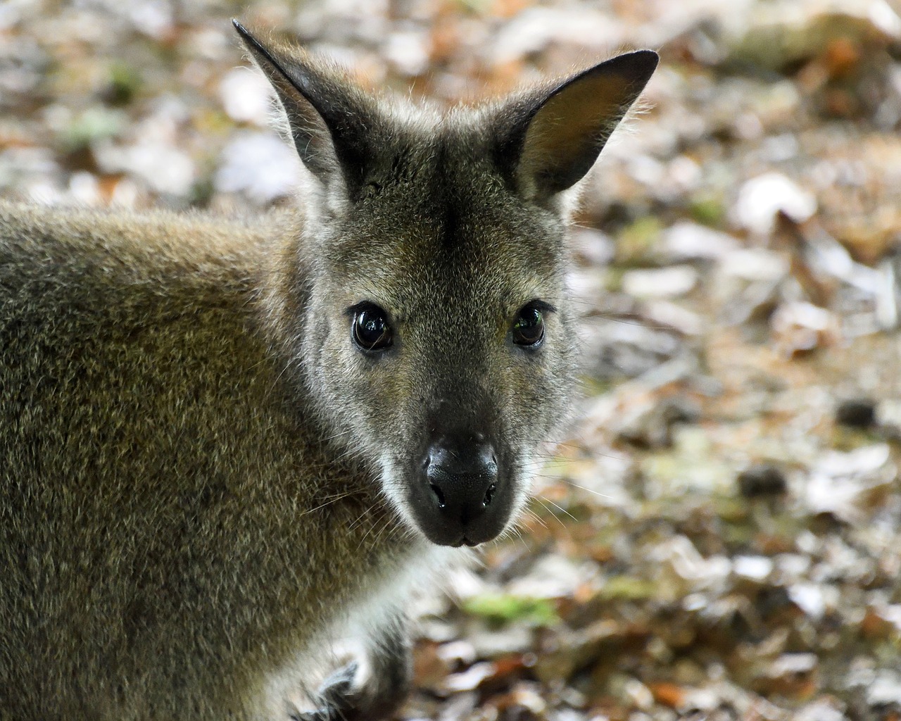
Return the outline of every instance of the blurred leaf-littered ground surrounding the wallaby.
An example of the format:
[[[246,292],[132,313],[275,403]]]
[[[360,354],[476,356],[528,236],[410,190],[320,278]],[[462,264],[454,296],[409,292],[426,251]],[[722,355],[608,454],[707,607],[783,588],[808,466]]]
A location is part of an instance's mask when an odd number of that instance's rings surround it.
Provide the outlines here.
[[[588,179],[584,408],[424,598],[399,717],[901,718],[898,0],[3,0],[0,196],[255,214],[298,168],[229,19],[474,100],[660,49]]]

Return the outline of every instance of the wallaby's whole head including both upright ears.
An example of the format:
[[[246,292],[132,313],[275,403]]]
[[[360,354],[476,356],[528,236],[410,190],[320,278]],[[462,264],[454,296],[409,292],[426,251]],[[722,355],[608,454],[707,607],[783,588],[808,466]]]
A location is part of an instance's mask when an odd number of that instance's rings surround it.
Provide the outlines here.
[[[442,545],[495,538],[570,397],[564,196],[656,53],[440,114],[377,101],[235,27],[320,198],[273,304],[296,311],[287,354],[412,529]]]

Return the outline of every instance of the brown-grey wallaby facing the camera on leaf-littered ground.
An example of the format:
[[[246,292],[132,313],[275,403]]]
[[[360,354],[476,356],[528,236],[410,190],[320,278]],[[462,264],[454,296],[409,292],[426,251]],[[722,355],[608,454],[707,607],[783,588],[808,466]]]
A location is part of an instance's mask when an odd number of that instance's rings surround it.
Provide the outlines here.
[[[440,112],[234,24],[296,211],[0,205],[5,721],[389,716],[410,589],[514,523],[569,405],[567,191],[656,53]]]

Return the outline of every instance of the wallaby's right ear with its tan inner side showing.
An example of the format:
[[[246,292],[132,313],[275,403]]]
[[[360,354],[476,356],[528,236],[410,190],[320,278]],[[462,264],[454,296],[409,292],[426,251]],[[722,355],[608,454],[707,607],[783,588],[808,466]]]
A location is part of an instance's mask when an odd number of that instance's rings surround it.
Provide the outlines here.
[[[658,59],[653,50],[619,55],[518,102],[501,155],[519,192],[541,202],[583,178]]]

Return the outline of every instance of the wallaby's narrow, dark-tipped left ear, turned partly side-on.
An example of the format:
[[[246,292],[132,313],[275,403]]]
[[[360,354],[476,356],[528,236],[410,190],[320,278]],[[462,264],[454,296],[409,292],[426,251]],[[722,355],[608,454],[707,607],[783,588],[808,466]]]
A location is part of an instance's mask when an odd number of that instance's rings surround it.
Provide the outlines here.
[[[368,132],[377,109],[358,87],[302,51],[264,44],[237,20],[232,25],[275,88],[300,160],[323,185],[340,178],[353,195],[372,161]]]

